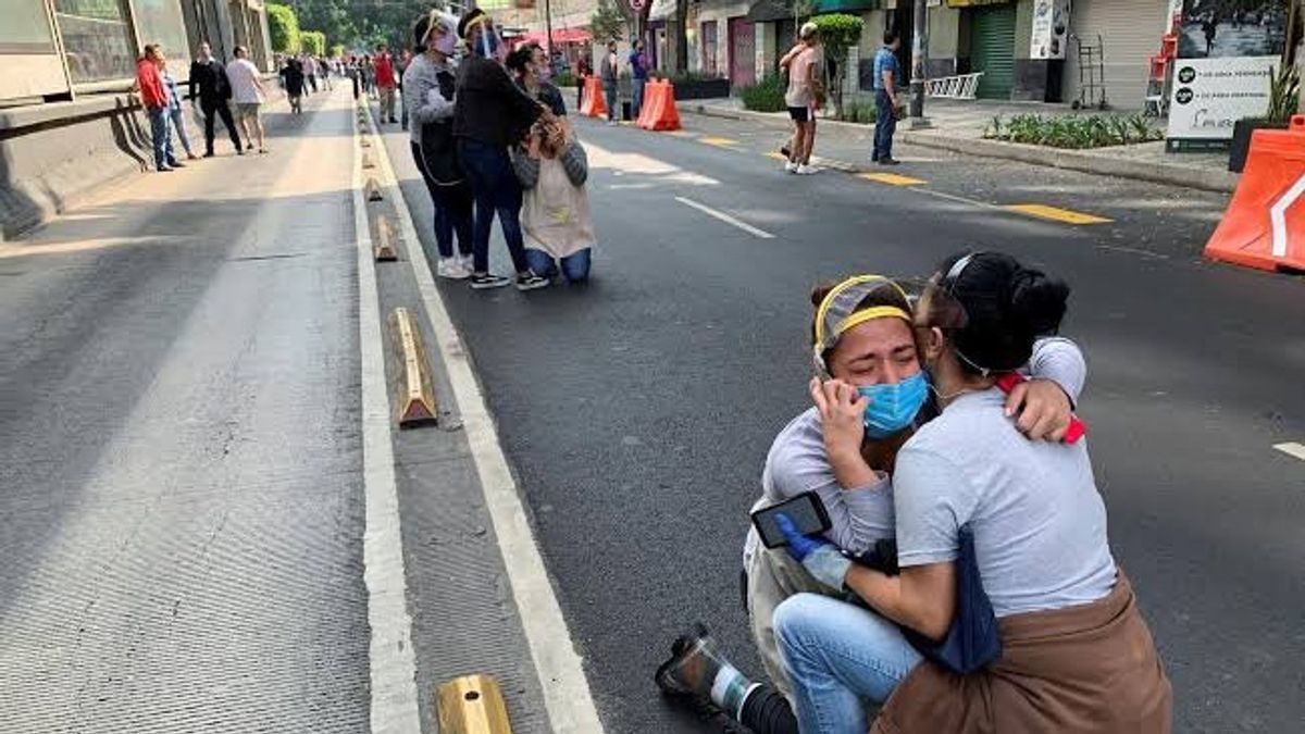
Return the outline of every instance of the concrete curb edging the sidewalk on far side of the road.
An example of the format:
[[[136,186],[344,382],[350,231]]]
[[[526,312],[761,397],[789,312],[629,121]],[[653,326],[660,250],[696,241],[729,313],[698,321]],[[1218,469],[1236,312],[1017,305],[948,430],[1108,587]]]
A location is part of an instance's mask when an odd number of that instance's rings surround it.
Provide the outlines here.
[[[773,127],[788,127],[786,118],[770,112],[753,112],[750,110],[723,110],[707,104],[688,106],[690,115],[705,118],[722,118],[727,120],[753,120]],[[839,120],[821,120],[821,125],[835,129],[867,133],[867,125],[843,123]],[[1083,150],[1061,150],[1058,148],[1043,148],[1039,145],[1024,145],[1019,142],[1000,142],[996,140],[949,137],[936,131],[899,131],[898,140],[908,145],[921,148],[934,148],[964,155],[979,155],[983,158],[1001,158],[1005,161],[1018,161],[1034,166],[1047,166],[1051,168],[1066,168],[1084,174],[1101,176],[1117,176],[1121,179],[1134,179],[1150,183],[1180,185],[1201,191],[1215,191],[1231,193],[1237,189],[1240,175],[1211,170],[1197,166],[1184,166],[1180,163],[1158,163],[1154,161],[1131,161],[1113,158],[1100,153],[1087,153]]]

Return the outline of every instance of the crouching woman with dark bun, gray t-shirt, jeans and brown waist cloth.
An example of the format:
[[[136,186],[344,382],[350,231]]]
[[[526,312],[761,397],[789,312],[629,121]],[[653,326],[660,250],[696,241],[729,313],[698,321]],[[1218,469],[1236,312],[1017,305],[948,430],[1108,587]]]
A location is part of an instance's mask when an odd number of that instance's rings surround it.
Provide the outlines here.
[[[863,699],[886,701],[873,731],[1160,734],[1172,690],[1107,541],[1083,441],[1031,443],[1010,424],[997,377],[1053,332],[1069,287],[997,253],[944,263],[916,310],[942,414],[903,445],[893,477],[899,576],[796,543],[874,611],[816,594],[775,611],[803,734],[863,734]],[[960,675],[925,661],[898,626],[942,640],[967,623],[962,538],[1004,652]],[[968,543],[968,541],[966,541]],[[805,547],[804,547],[805,546]],[[971,577],[972,579],[972,577]],[[983,605],[979,605],[980,607]]]

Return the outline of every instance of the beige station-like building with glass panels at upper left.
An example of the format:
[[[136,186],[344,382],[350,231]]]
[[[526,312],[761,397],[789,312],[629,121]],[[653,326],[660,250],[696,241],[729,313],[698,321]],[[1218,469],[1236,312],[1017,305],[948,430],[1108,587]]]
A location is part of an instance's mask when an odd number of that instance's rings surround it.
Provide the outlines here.
[[[245,46],[271,71],[262,0],[9,0],[0,9],[0,104],[67,101],[130,86],[147,43],[189,59],[201,40],[219,59]],[[177,76],[189,64],[179,64]]]

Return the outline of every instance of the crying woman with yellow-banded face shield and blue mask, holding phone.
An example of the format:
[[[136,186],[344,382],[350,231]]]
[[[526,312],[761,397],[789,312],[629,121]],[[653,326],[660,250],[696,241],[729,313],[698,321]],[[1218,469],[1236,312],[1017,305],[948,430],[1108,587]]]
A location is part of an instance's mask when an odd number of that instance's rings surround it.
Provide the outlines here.
[[[753,511],[814,492],[829,516],[827,541],[863,563],[893,568],[895,551],[886,543],[895,534],[890,474],[902,444],[937,414],[912,302],[894,281],[863,274],[817,287],[812,304],[805,347],[814,371],[812,406],[775,438]],[[1035,379],[1011,393],[1007,414],[1031,439],[1043,439],[1047,426],[1069,422],[1083,385],[1083,357],[1067,340],[1044,340],[1027,372]],[[752,680],[729,665],[698,624],[676,640],[658,684],[697,705],[710,704],[757,734],[796,733],[773,616],[780,602],[804,592],[844,594],[840,582],[822,580],[783,547],[766,549],[750,529],[743,594],[769,680]]]

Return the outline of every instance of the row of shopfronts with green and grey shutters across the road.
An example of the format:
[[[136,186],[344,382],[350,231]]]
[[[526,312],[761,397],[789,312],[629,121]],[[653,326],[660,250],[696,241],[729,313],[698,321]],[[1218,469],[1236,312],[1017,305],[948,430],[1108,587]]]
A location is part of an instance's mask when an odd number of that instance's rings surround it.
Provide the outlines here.
[[[1081,80],[1100,85],[1112,107],[1141,108],[1147,95],[1151,57],[1160,52],[1181,0],[928,0],[930,77],[983,72],[979,97],[1070,102],[1084,90]],[[753,84],[776,71],[796,38],[793,0],[690,0],[685,24],[689,68]],[[851,13],[865,21],[859,47],[847,63],[856,73],[850,85],[869,89],[874,52],[885,30],[902,37],[902,68],[910,69],[912,0],[814,0],[810,14]],[[1056,10],[1056,48],[1035,46],[1035,16]],[[672,29],[673,0],[652,3],[654,29]],[[1045,27],[1045,26],[1044,26]],[[666,46],[666,30],[655,38]],[[673,46],[673,43],[672,43]],[[1084,68],[1081,48],[1095,48],[1096,63]],[[1037,59],[1035,56],[1060,56]],[[662,54],[666,56],[666,54]],[[1086,52],[1083,54],[1086,57]]]

